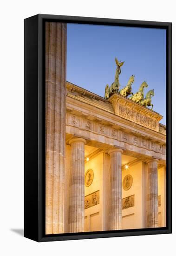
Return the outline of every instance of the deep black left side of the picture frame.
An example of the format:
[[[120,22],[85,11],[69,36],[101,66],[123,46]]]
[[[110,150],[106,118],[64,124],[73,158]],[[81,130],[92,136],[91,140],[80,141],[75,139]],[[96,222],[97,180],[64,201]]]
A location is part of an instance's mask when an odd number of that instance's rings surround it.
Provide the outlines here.
[[[38,15],[24,20],[24,236],[38,239]]]

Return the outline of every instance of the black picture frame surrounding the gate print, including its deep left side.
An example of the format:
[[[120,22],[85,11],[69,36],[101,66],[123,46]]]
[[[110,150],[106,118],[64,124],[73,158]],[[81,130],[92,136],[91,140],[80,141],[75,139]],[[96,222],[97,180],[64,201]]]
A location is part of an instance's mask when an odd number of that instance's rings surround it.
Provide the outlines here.
[[[45,235],[45,26],[46,21],[126,27],[164,28],[167,36],[167,175],[165,228]],[[172,232],[172,23],[38,14],[24,20],[25,145],[24,236],[38,242]]]

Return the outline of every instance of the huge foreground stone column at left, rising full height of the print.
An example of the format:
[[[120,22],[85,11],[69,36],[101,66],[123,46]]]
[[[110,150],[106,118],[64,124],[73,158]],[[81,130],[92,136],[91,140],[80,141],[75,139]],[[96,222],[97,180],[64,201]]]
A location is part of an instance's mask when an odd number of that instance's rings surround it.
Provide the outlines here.
[[[64,232],[66,23],[46,22],[46,234]]]

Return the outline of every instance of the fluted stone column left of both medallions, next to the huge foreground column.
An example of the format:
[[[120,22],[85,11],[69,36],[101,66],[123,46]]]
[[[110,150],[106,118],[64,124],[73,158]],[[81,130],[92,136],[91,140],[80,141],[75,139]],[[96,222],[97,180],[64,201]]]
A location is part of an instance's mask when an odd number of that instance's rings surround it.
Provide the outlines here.
[[[84,232],[85,212],[85,139],[74,138],[71,145],[70,232]]]

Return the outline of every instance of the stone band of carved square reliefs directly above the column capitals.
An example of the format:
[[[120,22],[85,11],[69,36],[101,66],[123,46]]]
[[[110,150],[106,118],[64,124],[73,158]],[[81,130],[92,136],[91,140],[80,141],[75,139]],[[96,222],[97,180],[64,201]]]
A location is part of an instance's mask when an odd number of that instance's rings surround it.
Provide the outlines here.
[[[77,115],[76,115],[77,114]],[[66,131],[72,135],[82,135],[85,139],[103,142],[106,144],[121,146],[125,150],[136,151],[143,155],[160,155],[164,159],[166,155],[165,141],[150,138],[150,136],[136,135],[135,132],[116,128],[104,122],[102,119],[94,117],[90,119],[83,113],[74,113],[74,110],[67,109]],[[150,154],[149,152],[150,151]],[[153,152],[153,153],[152,153]],[[161,157],[163,155],[163,157]]]

